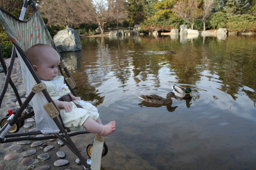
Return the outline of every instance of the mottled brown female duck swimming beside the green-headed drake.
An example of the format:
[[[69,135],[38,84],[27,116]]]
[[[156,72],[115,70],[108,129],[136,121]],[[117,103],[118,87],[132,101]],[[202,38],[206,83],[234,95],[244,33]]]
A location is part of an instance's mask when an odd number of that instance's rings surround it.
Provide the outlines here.
[[[148,103],[153,103],[153,104],[171,104],[172,103],[172,98],[177,99],[177,97],[175,97],[174,92],[169,92],[166,95],[166,98],[163,98],[161,96],[158,95],[141,95],[138,96],[139,98],[141,98],[142,100],[148,102]]]

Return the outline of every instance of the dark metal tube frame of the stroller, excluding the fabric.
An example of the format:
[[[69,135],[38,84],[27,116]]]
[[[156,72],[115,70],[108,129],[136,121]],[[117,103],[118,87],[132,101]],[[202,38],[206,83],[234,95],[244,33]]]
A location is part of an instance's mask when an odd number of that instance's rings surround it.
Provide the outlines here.
[[[33,0],[25,0],[25,2],[23,3],[23,7],[22,7],[22,11],[20,14],[20,20],[22,21],[25,13],[26,13],[26,8],[27,5],[31,5],[33,7],[34,12],[37,11],[37,7],[36,4]],[[3,10],[2,8],[0,9],[0,12],[5,12],[5,10]],[[11,14],[9,14],[11,15]],[[10,35],[9,35],[10,37]],[[7,87],[10,84],[10,86],[12,87],[15,96],[17,97],[17,101],[20,105],[20,108],[18,109],[17,113],[12,114],[7,120],[5,125],[1,128],[0,130],[0,143],[6,143],[6,142],[14,142],[14,141],[24,141],[24,140],[47,140],[47,139],[60,139],[63,143],[65,143],[65,145],[81,160],[81,162],[83,163],[84,167],[86,169],[98,169],[100,168],[100,161],[98,162],[99,165],[95,165],[94,166],[89,166],[87,164],[87,159],[84,158],[81,153],[79,152],[79,150],[77,149],[77,147],[75,146],[74,142],[71,140],[70,137],[73,137],[75,135],[79,135],[79,134],[87,134],[90,132],[87,131],[76,131],[76,132],[70,132],[69,128],[65,128],[65,126],[63,125],[63,122],[61,120],[60,117],[60,111],[59,108],[55,105],[55,103],[53,102],[51,96],[49,95],[49,93],[46,91],[44,84],[41,82],[41,80],[38,78],[33,66],[31,65],[30,61],[27,58],[26,53],[23,51],[23,49],[14,43],[14,41],[12,40],[13,43],[13,50],[12,50],[12,56],[11,56],[11,60],[10,60],[10,65],[9,67],[6,66],[5,60],[3,58],[3,53],[2,53],[2,49],[0,46],[0,62],[3,66],[3,70],[4,73],[6,75],[5,78],[5,83],[4,83],[4,87],[1,91],[1,95],[0,95],[0,107],[4,98],[4,95],[6,93]],[[54,48],[56,49],[55,45],[53,45]],[[57,49],[56,49],[57,50]],[[58,50],[57,50],[58,52]],[[36,85],[32,88],[32,91],[30,92],[30,94],[28,94],[27,98],[25,101],[23,101],[19,96],[19,92],[17,90],[17,88],[15,87],[12,79],[11,79],[11,73],[12,73],[12,68],[13,68],[13,64],[14,64],[14,60],[15,57],[17,56],[17,53],[20,54],[20,56],[22,57],[23,62],[25,62],[25,64],[27,65],[30,73],[33,75],[35,81],[36,81]],[[60,73],[63,75],[62,69],[65,71],[66,75],[67,75],[67,79],[65,80],[70,91],[72,92],[72,94],[74,96],[77,96],[75,91],[74,91],[74,87],[75,87],[75,82],[74,80],[71,78],[66,64],[65,62],[62,60],[61,56],[60,56],[60,60],[61,63],[59,65],[59,71]],[[35,94],[39,91],[43,92],[43,95],[45,96],[45,98],[47,99],[47,101],[49,102],[45,107],[46,112],[49,114],[49,116],[52,118],[52,120],[55,122],[55,124],[58,126],[60,132],[59,133],[52,133],[52,134],[47,134],[44,137],[28,137],[28,135],[37,135],[37,134],[42,134],[41,131],[33,131],[33,132],[23,132],[23,133],[8,133],[10,131],[10,129],[13,126],[20,126],[20,124],[22,124],[27,118],[30,118],[32,116],[35,115],[34,111],[26,113],[26,114],[22,114],[23,111],[25,111],[25,109],[29,108],[29,103],[31,101],[31,99],[35,96]],[[70,133],[68,133],[70,132]],[[19,138],[17,138],[19,137]],[[99,150],[99,147],[94,147],[95,143],[100,142],[102,145],[100,145],[101,148],[103,148],[103,143],[104,140],[102,137],[100,137],[98,134],[96,135],[95,139],[94,139],[94,144],[93,144],[93,151],[92,151],[92,155],[94,152],[94,148]],[[88,146],[87,146],[88,147]],[[107,146],[104,143],[104,147],[105,147],[105,153],[103,154],[107,154]],[[100,149],[102,151],[102,149]],[[92,156],[91,155],[91,156]],[[105,156],[103,155],[103,156]],[[90,155],[89,155],[90,156]],[[93,159],[92,159],[92,165],[93,165]]]

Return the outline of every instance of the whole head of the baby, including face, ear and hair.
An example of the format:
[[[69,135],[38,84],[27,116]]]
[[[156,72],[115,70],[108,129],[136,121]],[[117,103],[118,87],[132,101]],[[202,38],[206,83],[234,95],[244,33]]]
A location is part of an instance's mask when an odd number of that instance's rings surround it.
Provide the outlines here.
[[[51,46],[34,45],[28,49],[27,56],[41,80],[50,81],[58,75],[60,56]]]

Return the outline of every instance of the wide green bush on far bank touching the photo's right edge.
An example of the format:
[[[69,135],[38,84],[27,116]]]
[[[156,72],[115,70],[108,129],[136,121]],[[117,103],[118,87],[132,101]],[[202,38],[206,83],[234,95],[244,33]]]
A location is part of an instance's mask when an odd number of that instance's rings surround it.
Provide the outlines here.
[[[255,32],[255,17],[249,14],[233,15],[228,18],[227,28],[232,32]]]

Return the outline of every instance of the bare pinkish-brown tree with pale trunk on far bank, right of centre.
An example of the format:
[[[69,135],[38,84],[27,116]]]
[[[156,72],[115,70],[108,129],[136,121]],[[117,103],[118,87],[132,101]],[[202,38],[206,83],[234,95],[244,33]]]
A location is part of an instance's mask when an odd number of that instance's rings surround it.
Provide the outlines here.
[[[193,29],[195,20],[202,16],[201,9],[199,8],[200,5],[201,2],[197,0],[180,1],[174,5],[172,10],[177,13],[180,18],[189,23],[191,29]]]

